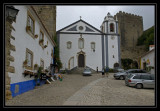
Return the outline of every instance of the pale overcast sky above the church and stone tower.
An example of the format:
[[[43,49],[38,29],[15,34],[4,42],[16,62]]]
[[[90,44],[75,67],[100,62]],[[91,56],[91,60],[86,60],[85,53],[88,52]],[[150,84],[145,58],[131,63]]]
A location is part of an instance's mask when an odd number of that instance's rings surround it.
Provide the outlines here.
[[[78,21],[80,16],[82,20],[100,30],[100,26],[107,13],[110,12],[110,14],[114,16],[119,11],[142,16],[143,30],[150,28],[155,23],[155,10],[153,5],[67,5],[57,6],[56,30],[58,31]]]

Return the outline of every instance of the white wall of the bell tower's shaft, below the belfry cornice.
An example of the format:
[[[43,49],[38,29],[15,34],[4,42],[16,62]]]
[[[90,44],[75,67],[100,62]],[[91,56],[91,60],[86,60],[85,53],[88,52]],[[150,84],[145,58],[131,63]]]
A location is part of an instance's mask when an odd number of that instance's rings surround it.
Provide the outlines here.
[[[112,46],[114,45],[114,48]],[[118,63],[118,37],[114,35],[114,40],[111,39],[111,35],[108,35],[108,60],[109,68],[114,68],[114,64]],[[114,55],[114,58],[113,58]]]

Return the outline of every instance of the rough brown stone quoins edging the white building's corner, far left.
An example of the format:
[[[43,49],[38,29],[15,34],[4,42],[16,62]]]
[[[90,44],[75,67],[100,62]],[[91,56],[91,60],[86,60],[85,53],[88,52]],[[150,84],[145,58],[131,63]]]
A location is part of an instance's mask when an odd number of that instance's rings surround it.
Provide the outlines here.
[[[12,99],[12,93],[10,91],[10,77],[8,72],[15,73],[14,66],[10,66],[10,62],[14,62],[14,57],[11,56],[11,51],[16,51],[15,46],[11,44],[11,40],[15,40],[15,38],[11,35],[12,30],[14,30],[12,26],[11,20],[6,20],[5,22],[5,99]]]

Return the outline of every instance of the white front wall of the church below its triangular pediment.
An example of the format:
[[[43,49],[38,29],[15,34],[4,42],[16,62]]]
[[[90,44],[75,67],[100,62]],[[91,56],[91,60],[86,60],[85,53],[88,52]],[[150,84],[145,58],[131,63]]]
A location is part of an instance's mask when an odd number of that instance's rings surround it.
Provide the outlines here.
[[[68,61],[71,57],[74,57],[74,67],[78,66],[78,56],[77,53],[81,51],[78,48],[78,40],[80,34],[60,34],[60,59],[63,64],[62,70],[68,68]],[[86,62],[85,65],[96,70],[98,66],[99,69],[102,68],[102,49],[101,49],[101,35],[90,35],[82,34],[84,38],[84,49]],[[71,49],[67,49],[67,42],[72,42]],[[91,42],[95,42],[95,52],[91,49]]]

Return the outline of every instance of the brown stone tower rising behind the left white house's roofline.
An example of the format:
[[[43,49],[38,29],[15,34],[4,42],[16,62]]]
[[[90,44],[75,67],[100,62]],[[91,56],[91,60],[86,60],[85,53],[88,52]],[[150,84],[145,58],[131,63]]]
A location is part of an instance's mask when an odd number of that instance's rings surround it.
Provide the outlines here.
[[[56,34],[56,6],[55,5],[33,5],[40,19],[47,28],[49,34]]]

